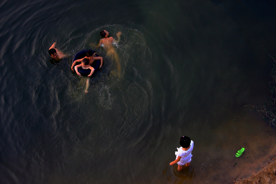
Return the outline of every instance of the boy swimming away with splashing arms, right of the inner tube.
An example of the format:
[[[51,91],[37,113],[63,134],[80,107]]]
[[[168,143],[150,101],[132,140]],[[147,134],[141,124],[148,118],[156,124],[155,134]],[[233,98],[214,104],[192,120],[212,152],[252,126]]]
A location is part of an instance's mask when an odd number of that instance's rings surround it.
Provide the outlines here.
[[[117,37],[118,37],[118,40],[116,41],[113,37],[108,37],[109,36],[109,32],[107,32],[106,30],[102,30],[100,32],[100,35],[103,37],[99,44],[97,45],[97,47],[103,45],[104,48],[106,49],[106,53],[109,57],[113,58],[116,62],[116,65],[117,65],[117,69],[118,69],[118,76],[121,77],[121,66],[120,66],[120,60],[119,60],[119,57],[118,57],[118,54],[117,52],[114,50],[114,47],[112,45],[113,42],[119,42],[120,41],[120,38],[121,38],[121,35],[122,35],[122,32],[118,32],[117,33]]]

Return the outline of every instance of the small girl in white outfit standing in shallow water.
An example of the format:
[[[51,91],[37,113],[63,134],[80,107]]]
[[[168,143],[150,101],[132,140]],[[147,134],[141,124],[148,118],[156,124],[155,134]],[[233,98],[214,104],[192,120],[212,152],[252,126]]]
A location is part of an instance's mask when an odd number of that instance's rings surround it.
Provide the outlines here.
[[[191,157],[193,156],[191,152],[193,151],[193,141],[190,139],[190,137],[183,136],[180,137],[179,141],[181,147],[177,148],[177,152],[175,152],[176,160],[173,162],[170,162],[170,166],[174,164],[178,164],[177,170],[181,171],[183,168],[183,165],[186,165],[187,167],[190,166],[191,163]]]

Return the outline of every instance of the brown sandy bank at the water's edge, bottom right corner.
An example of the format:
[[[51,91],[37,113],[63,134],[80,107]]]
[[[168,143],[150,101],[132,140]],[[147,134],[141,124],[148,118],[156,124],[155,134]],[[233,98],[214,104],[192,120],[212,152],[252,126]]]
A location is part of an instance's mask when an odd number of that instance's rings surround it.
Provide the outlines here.
[[[276,183],[276,153],[272,159],[261,165],[259,170],[249,170],[250,177],[237,177],[234,184],[275,184]]]

